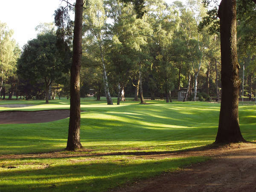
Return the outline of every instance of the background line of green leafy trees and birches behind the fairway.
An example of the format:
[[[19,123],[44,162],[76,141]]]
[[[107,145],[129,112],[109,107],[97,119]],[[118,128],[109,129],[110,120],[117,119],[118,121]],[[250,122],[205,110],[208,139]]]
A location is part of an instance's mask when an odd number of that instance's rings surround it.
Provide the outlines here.
[[[82,97],[94,89],[96,99],[106,96],[108,104],[113,103],[112,96],[121,97],[122,92],[141,102],[143,96],[169,102],[180,88],[187,88],[186,100],[195,100],[198,88],[200,98],[221,96],[220,35],[211,26],[200,26],[208,11],[200,0],[189,0],[186,5],[148,0],[141,18],[131,2],[87,0],[84,7]],[[253,3],[238,3],[238,58],[245,67],[244,95],[256,90],[254,9]],[[38,37],[28,41],[21,55],[12,31],[1,23],[2,99],[6,94],[9,99],[13,95],[69,98],[73,22],[67,14],[58,13],[56,10],[57,30],[49,24],[38,26]],[[34,52],[30,49],[33,46]],[[51,56],[35,55],[39,50]],[[239,74],[242,78],[241,70]]]

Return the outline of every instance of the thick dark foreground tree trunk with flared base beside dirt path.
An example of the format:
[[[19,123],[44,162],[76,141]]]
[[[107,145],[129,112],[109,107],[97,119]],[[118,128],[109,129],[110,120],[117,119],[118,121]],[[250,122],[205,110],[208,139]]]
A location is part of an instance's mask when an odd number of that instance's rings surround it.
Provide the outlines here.
[[[245,141],[239,128],[239,63],[236,49],[236,0],[221,0],[221,110],[215,143]]]

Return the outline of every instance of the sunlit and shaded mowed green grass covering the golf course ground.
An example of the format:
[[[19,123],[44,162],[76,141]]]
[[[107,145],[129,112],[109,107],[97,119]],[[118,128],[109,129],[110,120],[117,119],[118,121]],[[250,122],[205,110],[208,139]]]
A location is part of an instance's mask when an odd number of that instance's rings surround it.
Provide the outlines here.
[[[168,153],[210,144],[218,128],[219,104],[147,102],[149,105],[126,101],[109,106],[105,100],[81,99],[84,151],[62,151],[63,157],[0,159],[0,191],[106,191],[208,159],[136,158],[134,154]],[[0,110],[69,108],[67,99],[56,99],[48,105],[44,101],[0,101],[0,104],[23,103],[36,106]],[[256,140],[255,109],[256,106],[239,107],[241,132],[249,141]],[[64,150],[68,122],[67,118],[48,123],[0,125],[0,154]]]

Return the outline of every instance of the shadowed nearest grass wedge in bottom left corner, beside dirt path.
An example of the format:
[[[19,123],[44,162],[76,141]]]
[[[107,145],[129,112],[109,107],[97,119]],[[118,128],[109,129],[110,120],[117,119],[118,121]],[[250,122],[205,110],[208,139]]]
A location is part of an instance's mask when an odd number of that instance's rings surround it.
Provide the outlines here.
[[[153,177],[164,171],[207,160],[183,158],[166,160],[116,160],[112,163],[76,163],[46,169],[6,170],[0,173],[3,191],[106,191],[133,180]]]

